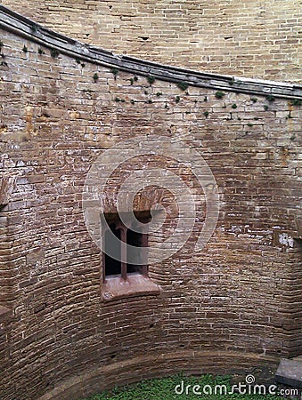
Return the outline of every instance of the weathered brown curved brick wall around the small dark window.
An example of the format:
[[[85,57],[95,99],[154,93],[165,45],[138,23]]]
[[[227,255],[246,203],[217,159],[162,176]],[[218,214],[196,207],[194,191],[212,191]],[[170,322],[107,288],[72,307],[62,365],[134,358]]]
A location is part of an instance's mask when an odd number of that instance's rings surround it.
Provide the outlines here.
[[[1,398],[77,399],[181,370],[252,371],[298,355],[298,87],[168,68],[165,79],[183,74],[195,85],[183,92],[158,78],[150,86],[139,74],[132,84],[130,70],[114,79],[87,55],[78,55],[85,65],[67,50],[52,57],[37,44],[46,36],[18,24],[1,28]],[[84,181],[105,149],[147,133],[184,140],[204,157],[219,220],[203,251],[193,250],[197,222],[179,252],[150,266],[159,293],[105,301]],[[170,166],[195,185],[184,165]],[[118,188],[125,176],[115,178]]]

